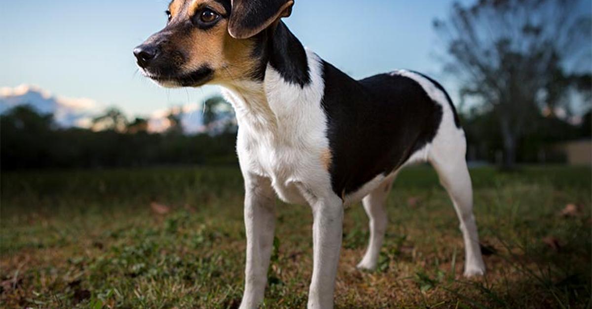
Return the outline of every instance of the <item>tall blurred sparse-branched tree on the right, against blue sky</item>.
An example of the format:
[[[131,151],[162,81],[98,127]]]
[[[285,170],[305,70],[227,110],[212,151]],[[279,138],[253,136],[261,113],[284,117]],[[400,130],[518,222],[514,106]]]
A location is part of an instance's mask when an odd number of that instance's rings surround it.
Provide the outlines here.
[[[574,77],[589,76],[591,19],[581,9],[578,0],[478,0],[434,22],[461,96],[496,116],[507,168],[540,111],[566,105]]]

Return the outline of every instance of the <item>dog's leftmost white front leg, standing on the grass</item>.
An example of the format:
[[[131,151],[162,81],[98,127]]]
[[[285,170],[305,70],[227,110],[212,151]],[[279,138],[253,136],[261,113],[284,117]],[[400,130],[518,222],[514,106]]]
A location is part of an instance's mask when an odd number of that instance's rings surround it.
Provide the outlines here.
[[[275,194],[268,178],[245,175],[244,226],[247,262],[241,309],[258,308],[263,301],[269,259],[274,245]]]

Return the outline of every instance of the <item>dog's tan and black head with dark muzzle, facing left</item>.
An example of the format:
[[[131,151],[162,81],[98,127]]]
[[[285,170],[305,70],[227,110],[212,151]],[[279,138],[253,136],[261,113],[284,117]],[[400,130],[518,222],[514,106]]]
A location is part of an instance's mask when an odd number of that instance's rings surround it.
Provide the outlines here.
[[[255,78],[263,37],[293,0],[173,0],[166,27],[134,49],[142,73],[165,87]]]

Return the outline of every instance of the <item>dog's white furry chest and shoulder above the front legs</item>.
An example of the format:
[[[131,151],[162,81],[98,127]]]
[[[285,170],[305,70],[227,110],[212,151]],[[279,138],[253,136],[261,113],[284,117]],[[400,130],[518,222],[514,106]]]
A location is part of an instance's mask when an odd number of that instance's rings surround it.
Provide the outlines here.
[[[308,53],[308,58],[308,86],[286,83],[268,67],[261,92],[225,93],[237,113],[243,173],[269,178],[278,196],[289,203],[304,203],[303,191],[321,194],[330,189],[327,121],[321,107],[324,84],[317,56]]]

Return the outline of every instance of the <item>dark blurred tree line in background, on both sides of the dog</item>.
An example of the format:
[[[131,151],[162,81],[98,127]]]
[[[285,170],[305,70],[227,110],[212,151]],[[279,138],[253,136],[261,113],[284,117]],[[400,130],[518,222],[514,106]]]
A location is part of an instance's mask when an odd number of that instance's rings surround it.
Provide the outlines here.
[[[45,168],[113,168],[154,165],[236,164],[236,127],[213,126],[215,108],[207,108],[202,134],[184,134],[180,116],[171,113],[169,129],[150,133],[146,119],[128,122],[117,109],[94,119],[91,129],[59,128],[52,115],[17,106],[0,116],[2,170]],[[493,112],[461,114],[469,160],[496,162],[503,149],[502,132]],[[518,162],[564,162],[552,151],[557,142],[591,138],[591,113],[581,125],[554,116],[536,117],[536,129],[517,142]],[[95,131],[101,128],[102,131]],[[541,153],[545,156],[541,158]]]

